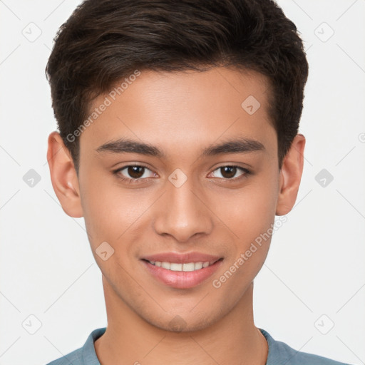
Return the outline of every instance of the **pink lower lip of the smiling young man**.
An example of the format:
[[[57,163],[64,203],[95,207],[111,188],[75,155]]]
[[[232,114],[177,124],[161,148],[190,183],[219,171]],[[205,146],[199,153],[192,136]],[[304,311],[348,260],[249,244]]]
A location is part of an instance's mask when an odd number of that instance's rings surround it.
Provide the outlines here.
[[[163,282],[163,284],[178,289],[188,289],[196,287],[208,277],[212,276],[222,264],[222,259],[208,267],[203,267],[195,271],[172,271],[150,264],[150,262],[145,260],[142,260],[142,262],[148,271],[160,282]]]

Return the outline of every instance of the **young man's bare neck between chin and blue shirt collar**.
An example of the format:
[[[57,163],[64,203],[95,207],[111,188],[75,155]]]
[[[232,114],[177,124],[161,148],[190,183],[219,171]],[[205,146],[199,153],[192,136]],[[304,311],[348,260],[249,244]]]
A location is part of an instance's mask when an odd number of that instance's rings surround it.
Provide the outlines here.
[[[130,309],[103,277],[108,327],[95,342],[103,365],[266,364],[267,341],[255,327],[253,283],[225,317],[197,331],[165,331]]]

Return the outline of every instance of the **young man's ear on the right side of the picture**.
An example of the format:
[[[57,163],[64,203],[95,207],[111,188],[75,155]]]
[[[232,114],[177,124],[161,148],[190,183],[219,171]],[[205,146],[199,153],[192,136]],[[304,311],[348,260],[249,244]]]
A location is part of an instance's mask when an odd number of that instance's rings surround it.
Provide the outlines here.
[[[276,215],[286,215],[297,200],[300,180],[303,173],[305,137],[294,137],[287,155],[285,155],[279,175],[279,197]]]

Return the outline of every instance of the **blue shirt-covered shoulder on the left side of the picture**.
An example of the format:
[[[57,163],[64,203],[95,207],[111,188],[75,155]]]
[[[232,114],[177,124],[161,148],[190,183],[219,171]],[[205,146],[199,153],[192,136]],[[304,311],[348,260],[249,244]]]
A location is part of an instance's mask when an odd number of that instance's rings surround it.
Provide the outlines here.
[[[94,329],[85,344],[69,354],[53,360],[46,365],[100,365],[96,356],[94,342],[104,334],[106,327]]]

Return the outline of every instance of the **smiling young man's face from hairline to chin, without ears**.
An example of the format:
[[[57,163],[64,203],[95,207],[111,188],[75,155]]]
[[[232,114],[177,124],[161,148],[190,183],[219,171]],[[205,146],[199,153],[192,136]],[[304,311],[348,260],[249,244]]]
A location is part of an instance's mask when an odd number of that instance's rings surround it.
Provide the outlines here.
[[[282,181],[266,91],[253,72],[141,71],[93,101],[111,103],[80,137],[91,248],[110,296],[156,327],[214,324],[262,267]]]

